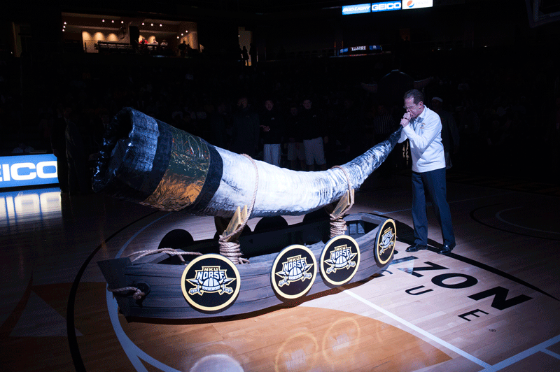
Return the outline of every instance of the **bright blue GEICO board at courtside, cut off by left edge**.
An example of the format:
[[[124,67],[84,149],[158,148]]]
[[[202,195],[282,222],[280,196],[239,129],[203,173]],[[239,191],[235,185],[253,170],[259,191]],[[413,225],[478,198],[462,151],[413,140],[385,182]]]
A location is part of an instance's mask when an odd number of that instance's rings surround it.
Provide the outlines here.
[[[58,183],[52,154],[0,157],[0,188]]]

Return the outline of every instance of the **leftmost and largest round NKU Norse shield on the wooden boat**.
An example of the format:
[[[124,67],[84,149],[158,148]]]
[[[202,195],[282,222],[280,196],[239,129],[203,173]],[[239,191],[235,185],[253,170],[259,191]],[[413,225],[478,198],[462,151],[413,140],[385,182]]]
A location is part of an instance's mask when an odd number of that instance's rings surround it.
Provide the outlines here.
[[[193,259],[181,276],[183,296],[190,306],[201,311],[220,311],[237,299],[241,278],[230,259],[221,255],[202,255]]]

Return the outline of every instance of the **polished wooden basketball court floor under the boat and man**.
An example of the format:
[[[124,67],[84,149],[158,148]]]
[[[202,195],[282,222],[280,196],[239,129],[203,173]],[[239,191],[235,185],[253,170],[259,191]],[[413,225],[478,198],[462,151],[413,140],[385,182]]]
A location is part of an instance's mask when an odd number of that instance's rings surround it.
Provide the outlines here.
[[[56,188],[0,193],[0,369],[560,371],[558,188],[448,176],[451,255],[437,254],[433,214],[431,248],[405,252],[409,175],[374,175],[351,213],[397,222],[382,276],[298,306],[174,322],[127,322],[97,262],[155,249],[172,229],[211,238],[212,217]]]

